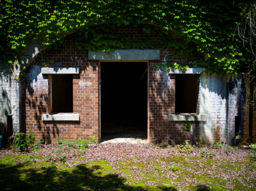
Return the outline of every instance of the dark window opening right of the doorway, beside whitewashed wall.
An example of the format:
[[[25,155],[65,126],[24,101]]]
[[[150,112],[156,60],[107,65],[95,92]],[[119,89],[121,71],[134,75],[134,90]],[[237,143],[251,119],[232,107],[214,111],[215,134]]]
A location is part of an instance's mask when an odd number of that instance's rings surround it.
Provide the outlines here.
[[[197,113],[198,88],[198,74],[175,74],[175,113]]]

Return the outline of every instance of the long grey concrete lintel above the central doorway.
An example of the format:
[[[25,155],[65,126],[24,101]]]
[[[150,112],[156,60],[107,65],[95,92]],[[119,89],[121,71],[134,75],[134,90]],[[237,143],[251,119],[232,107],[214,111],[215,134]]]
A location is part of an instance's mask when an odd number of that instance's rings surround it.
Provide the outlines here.
[[[160,50],[116,50],[114,52],[89,51],[89,60],[160,60]]]

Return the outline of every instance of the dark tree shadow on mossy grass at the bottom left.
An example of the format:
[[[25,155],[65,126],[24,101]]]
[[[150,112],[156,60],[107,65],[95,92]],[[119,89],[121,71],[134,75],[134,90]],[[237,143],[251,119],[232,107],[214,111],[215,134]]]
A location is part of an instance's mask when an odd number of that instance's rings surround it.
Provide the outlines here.
[[[173,187],[142,188],[125,185],[127,181],[116,174],[102,174],[100,166],[79,165],[60,170],[53,167],[0,165],[2,191],[176,191]]]

